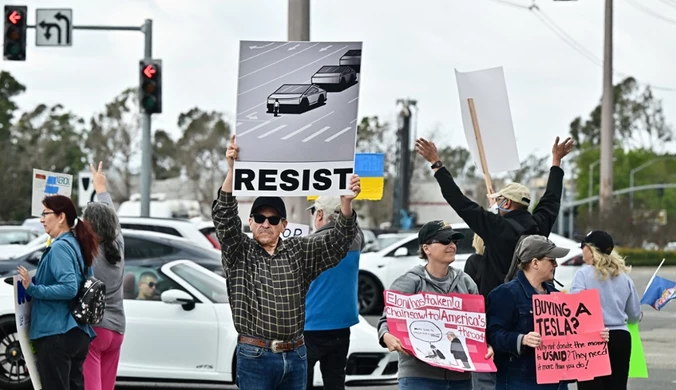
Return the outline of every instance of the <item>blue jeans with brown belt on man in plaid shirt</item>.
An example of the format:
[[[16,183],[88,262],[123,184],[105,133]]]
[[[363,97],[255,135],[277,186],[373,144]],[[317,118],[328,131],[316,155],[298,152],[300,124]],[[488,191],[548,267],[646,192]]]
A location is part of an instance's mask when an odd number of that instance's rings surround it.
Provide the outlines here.
[[[242,390],[305,390],[307,348],[275,353],[239,343],[236,370],[235,384]]]

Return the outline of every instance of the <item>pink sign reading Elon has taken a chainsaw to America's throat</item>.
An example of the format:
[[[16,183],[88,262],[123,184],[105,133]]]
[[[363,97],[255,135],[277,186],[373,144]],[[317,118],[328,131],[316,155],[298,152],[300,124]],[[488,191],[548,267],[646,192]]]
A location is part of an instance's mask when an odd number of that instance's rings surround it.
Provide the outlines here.
[[[423,362],[452,371],[497,371],[486,360],[484,297],[385,291],[390,333]]]

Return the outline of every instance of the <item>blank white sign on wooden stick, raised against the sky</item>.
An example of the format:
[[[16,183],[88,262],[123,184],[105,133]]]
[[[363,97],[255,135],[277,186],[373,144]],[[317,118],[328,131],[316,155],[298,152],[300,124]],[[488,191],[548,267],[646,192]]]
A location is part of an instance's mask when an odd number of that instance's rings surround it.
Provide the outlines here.
[[[481,168],[479,148],[467,101],[469,98],[474,100],[488,173],[498,174],[519,169],[521,162],[516,148],[514,124],[502,67],[474,72],[458,72],[456,69],[455,77],[460,95],[462,124],[474,163]]]

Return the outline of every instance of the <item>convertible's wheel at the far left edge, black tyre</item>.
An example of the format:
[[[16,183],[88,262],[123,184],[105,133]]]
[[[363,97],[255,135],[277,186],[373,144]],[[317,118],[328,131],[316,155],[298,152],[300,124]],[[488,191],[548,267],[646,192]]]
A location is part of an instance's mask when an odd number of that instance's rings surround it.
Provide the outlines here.
[[[0,388],[32,389],[13,316],[0,318]]]

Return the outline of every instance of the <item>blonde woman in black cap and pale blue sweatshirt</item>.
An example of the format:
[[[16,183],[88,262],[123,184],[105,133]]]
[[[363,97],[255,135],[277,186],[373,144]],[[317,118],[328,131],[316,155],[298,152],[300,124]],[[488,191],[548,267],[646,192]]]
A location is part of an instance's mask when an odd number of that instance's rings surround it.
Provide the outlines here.
[[[610,234],[595,230],[580,244],[583,265],[575,274],[571,293],[597,289],[603,308],[603,322],[610,329],[608,355],[612,373],[591,381],[579,381],[578,390],[626,390],[631,357],[631,335],[627,324],[641,320],[641,305],[631,270],[614,250]]]

